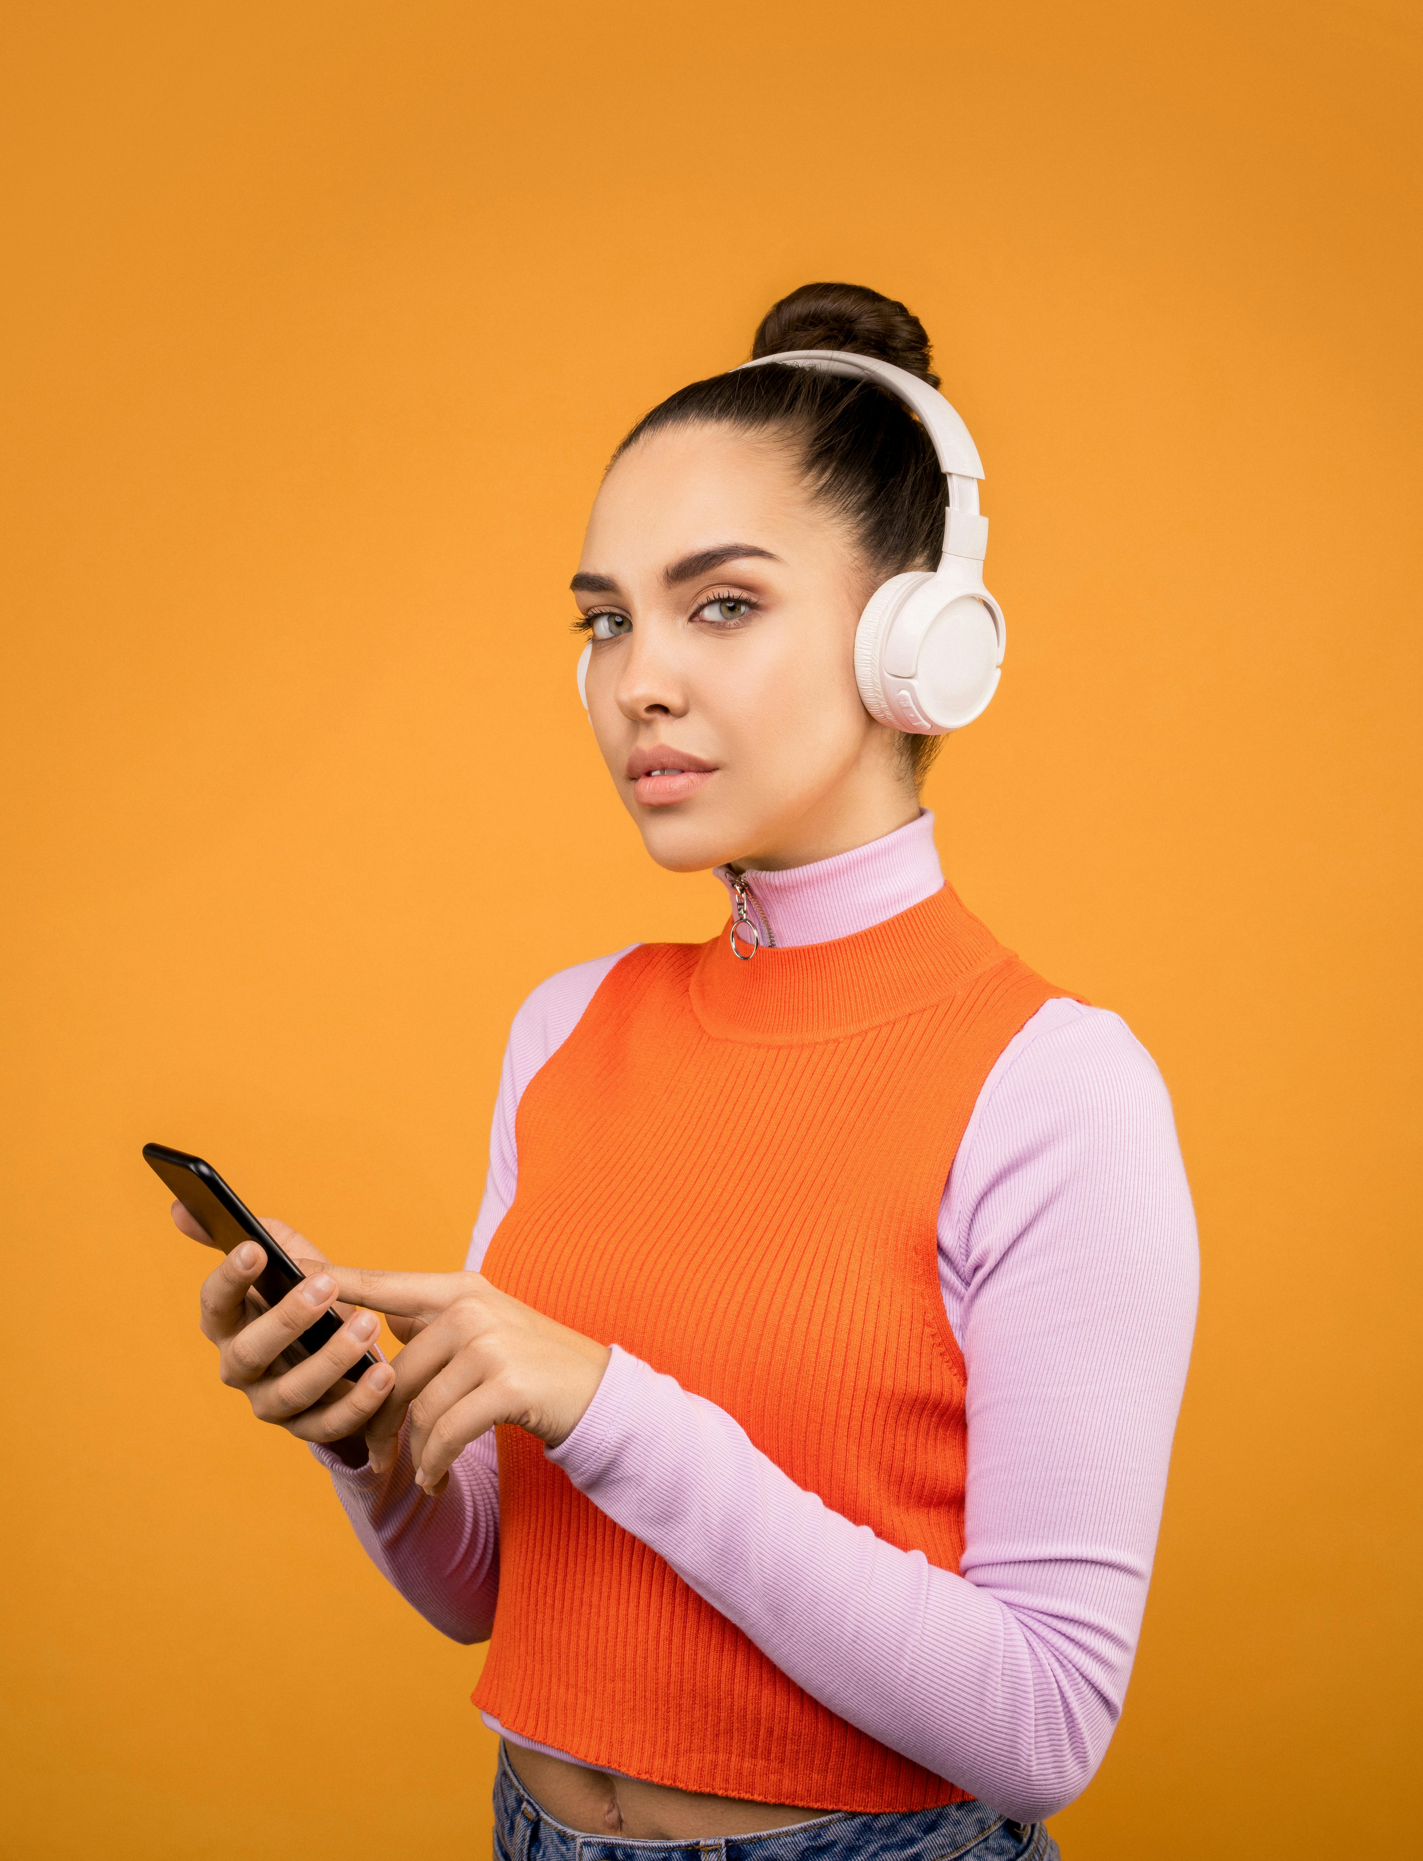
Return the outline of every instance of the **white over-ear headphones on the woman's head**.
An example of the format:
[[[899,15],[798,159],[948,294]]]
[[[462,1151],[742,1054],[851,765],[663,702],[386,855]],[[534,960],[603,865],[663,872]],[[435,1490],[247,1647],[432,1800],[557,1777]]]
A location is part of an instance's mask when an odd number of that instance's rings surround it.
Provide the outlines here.
[[[878,382],[919,415],[949,480],[943,556],[930,575],[891,575],[856,627],[856,683],[865,709],[891,730],[943,737],[988,709],[1006,646],[1003,609],[984,588],[988,517],[978,515],[984,467],[964,421],[943,395],[908,368],[848,350],[787,350],[742,368],[781,363]],[[592,644],[579,655],[579,696],[588,707]]]

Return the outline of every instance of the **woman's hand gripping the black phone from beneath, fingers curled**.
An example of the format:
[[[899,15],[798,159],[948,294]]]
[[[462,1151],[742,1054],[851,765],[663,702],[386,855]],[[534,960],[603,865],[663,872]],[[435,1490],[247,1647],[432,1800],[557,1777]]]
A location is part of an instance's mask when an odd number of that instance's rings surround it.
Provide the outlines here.
[[[195,1241],[212,1245],[180,1202],[173,1204],[173,1221]],[[342,1383],[342,1377],[374,1347],[379,1319],[359,1306],[337,1305],[337,1282],[322,1271],[326,1254],[296,1228],[285,1221],[264,1221],[262,1226],[307,1279],[268,1310],[253,1293],[266,1265],[257,1241],[244,1241],[223,1254],[203,1280],[199,1301],[203,1336],[218,1346],[218,1375],[229,1388],[242,1390],[259,1422],[285,1427],[298,1440],[331,1446],[350,1440],[350,1450],[339,1446],[337,1452],[348,1465],[359,1466],[366,1459],[366,1422],[391,1392],[394,1370],[381,1360],[355,1385]],[[313,1357],[288,1357],[288,1346],[331,1306],[344,1318],[340,1331]]]

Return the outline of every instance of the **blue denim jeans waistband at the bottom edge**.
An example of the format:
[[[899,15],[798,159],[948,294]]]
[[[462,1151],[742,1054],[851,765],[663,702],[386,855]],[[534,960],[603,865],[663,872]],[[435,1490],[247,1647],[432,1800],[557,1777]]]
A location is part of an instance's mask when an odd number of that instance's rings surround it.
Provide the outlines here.
[[[580,1835],[545,1816],[504,1749],[495,1779],[495,1861],[1060,1861],[1042,1822],[1010,1822],[986,1803],[887,1814],[837,1811],[761,1835],[670,1842]]]

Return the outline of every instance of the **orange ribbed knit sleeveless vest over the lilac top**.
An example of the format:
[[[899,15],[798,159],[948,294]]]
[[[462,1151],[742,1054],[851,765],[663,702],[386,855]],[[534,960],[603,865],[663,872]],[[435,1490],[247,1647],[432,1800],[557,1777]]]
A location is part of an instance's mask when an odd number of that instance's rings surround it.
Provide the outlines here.
[[[956,1571],[964,1359],[939,1200],[993,1061],[1057,994],[947,886],[751,962],[725,934],[638,947],[523,1094],[519,1187],[484,1271],[720,1403],[826,1506]],[[499,1506],[474,1703],[506,1729],[716,1796],[964,1798],[802,1692],[517,1427],[499,1429]]]

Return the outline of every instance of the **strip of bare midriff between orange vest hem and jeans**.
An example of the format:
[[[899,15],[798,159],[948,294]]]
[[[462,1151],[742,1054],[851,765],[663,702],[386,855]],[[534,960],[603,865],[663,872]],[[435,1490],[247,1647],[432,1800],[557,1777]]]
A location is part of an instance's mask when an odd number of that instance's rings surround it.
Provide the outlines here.
[[[789,1803],[744,1803],[735,1796],[698,1796],[664,1783],[614,1777],[586,1770],[567,1759],[504,1744],[513,1774],[554,1822],[580,1835],[625,1835],[629,1841],[716,1841],[722,1835],[757,1835],[792,1822],[815,1822],[824,1809]]]

